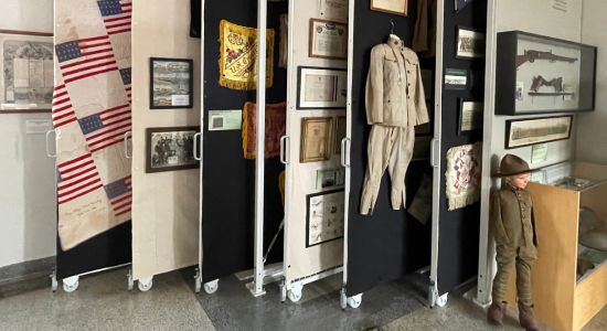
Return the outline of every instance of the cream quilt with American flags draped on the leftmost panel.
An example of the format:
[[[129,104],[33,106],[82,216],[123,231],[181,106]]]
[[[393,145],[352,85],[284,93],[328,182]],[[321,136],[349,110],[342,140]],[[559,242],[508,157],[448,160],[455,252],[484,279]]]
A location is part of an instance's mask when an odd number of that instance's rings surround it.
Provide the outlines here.
[[[130,0],[55,1],[58,237],[64,250],[130,220]]]

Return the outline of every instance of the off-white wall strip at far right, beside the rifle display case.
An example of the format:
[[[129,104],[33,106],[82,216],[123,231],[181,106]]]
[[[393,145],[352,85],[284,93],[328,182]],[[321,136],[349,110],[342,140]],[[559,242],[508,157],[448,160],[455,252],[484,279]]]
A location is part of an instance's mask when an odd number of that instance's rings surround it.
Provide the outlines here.
[[[584,0],[582,42],[598,47],[595,111],[577,116],[576,158],[607,163],[607,1]]]

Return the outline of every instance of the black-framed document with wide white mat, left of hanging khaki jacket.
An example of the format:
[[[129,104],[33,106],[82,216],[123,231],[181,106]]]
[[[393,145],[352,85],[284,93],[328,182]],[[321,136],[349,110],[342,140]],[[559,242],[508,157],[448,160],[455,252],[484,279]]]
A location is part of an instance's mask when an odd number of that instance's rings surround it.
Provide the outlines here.
[[[347,78],[345,70],[299,66],[297,109],[345,109]]]

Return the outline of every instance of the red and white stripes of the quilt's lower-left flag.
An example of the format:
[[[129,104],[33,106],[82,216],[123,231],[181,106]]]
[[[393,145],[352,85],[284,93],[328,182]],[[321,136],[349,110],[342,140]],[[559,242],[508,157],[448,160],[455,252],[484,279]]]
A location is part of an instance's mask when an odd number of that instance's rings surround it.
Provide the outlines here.
[[[61,177],[61,182],[57,184],[58,204],[64,204],[104,186],[90,153],[65,161],[57,168]]]

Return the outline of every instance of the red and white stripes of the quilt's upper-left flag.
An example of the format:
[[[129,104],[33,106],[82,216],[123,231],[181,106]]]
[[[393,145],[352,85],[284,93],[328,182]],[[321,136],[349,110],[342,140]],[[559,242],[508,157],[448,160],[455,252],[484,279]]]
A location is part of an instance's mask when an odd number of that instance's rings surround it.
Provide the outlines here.
[[[62,62],[58,66],[65,84],[118,70],[109,36],[81,39],[78,46],[81,56]]]

